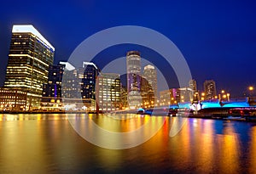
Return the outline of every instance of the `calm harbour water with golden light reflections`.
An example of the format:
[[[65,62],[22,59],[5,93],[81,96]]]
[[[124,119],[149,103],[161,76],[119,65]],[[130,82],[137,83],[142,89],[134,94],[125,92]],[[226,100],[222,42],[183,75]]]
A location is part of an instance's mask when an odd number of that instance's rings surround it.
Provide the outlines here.
[[[66,115],[0,115],[0,173],[253,173],[256,123],[189,118],[170,137],[178,117],[71,115],[113,132],[128,132],[148,120],[164,121],[146,143],[103,149],[86,142]],[[147,132],[142,134],[147,135]]]

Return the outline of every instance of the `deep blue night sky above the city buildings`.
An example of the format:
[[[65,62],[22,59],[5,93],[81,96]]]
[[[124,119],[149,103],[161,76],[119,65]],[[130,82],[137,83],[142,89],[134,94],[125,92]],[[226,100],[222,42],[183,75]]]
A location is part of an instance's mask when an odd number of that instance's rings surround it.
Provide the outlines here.
[[[67,60],[80,42],[98,31],[139,25],[159,31],[176,44],[199,89],[203,81],[212,79],[218,90],[224,88],[241,95],[248,86],[256,85],[255,7],[254,1],[2,2],[0,85],[4,81],[12,25],[34,25],[55,47],[55,64]],[[125,56],[131,48],[141,51],[143,57],[155,56],[136,46],[109,48],[98,56],[108,62],[115,56]],[[171,79],[175,83],[175,77]]]

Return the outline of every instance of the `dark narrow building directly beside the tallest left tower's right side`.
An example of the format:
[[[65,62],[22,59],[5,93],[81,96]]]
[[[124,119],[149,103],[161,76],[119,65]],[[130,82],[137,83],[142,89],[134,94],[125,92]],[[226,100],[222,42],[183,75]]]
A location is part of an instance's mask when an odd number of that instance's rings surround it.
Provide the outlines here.
[[[62,106],[61,82],[64,68],[65,65],[49,65],[48,83],[43,85],[41,100],[44,109],[60,109]]]

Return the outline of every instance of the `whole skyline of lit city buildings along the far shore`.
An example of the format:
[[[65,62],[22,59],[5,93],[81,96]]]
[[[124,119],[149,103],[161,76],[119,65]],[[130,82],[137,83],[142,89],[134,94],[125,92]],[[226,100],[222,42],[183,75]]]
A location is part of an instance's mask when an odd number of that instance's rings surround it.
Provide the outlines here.
[[[32,25],[14,25],[12,30],[12,39],[9,50],[9,64],[6,70],[6,80],[3,87],[12,87],[9,90],[16,90],[15,93],[9,93],[6,88],[3,88],[3,93],[6,97],[1,108],[15,107],[15,104],[20,104],[20,110],[31,109],[63,109],[62,95],[64,98],[69,95],[70,101],[64,102],[66,105],[81,104],[81,108],[95,110],[97,108],[102,111],[108,111],[114,108],[112,105],[105,103],[106,97],[112,96],[111,83],[103,81],[113,81],[117,74],[114,71],[111,74],[101,72],[93,62],[81,61],[81,65],[76,68],[68,62],[60,62],[58,65],[53,65],[55,48],[42,36],[37,29]],[[64,67],[67,66],[67,71]],[[200,101],[218,99],[219,104],[222,101],[230,102],[230,90],[222,89],[220,93],[216,90],[216,84],[213,80],[204,81],[204,90],[197,90],[197,82],[195,79],[187,81],[185,87],[167,87],[166,90],[160,91],[160,96],[157,94],[157,70],[154,65],[143,65],[141,53],[137,50],[126,53],[126,81],[127,81],[127,101],[128,108],[154,108],[154,106],[165,106],[170,104],[179,104],[190,102],[191,104],[199,103]],[[157,68],[157,67],[156,67]],[[112,70],[112,69],[111,69]],[[143,71],[142,71],[143,70]],[[62,75],[67,74],[64,78],[64,87],[62,86]],[[96,91],[97,76],[101,82],[98,82],[98,89],[102,93]],[[118,75],[119,78],[120,75]],[[172,78],[169,77],[169,78]],[[72,82],[73,81],[73,82]],[[121,81],[119,78],[119,91],[115,89],[117,98],[120,98]],[[71,84],[71,82],[73,84]],[[79,87],[80,86],[80,87]],[[114,85],[115,86],[115,85]],[[107,87],[106,89],[104,87]],[[16,98],[18,93],[26,92],[26,105],[22,105],[23,98]],[[63,91],[62,91],[63,89]],[[253,95],[253,87],[249,87],[249,95]],[[71,92],[71,93],[70,93]],[[225,93],[226,92],[226,93]],[[100,100],[96,104],[96,93]],[[24,93],[25,94],[25,93]],[[67,94],[67,95],[66,95]],[[107,95],[108,94],[108,95]],[[111,94],[111,95],[110,95]],[[193,97],[194,96],[194,97]],[[201,98],[200,98],[201,96]],[[43,99],[42,99],[43,97]],[[71,98],[70,98],[71,97]],[[113,96],[112,96],[113,97]],[[160,97],[160,98],[158,98]],[[248,96],[247,96],[248,97]],[[83,103],[79,103],[79,98],[82,98]],[[122,104],[117,99],[115,94],[113,98],[108,98],[114,101],[113,106],[119,109]],[[247,100],[246,100],[247,101]],[[73,104],[72,104],[73,103]],[[101,104],[102,103],[102,104]],[[111,103],[111,102],[110,102]],[[64,104],[64,107],[66,108]],[[117,107],[119,106],[119,107]]]

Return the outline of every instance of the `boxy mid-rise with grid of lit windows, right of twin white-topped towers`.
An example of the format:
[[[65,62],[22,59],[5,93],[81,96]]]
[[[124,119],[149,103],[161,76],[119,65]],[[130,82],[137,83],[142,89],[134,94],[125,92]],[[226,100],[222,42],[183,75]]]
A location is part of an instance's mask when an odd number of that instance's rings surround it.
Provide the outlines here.
[[[111,112],[120,108],[120,76],[102,73],[96,80],[96,103],[101,112]]]

